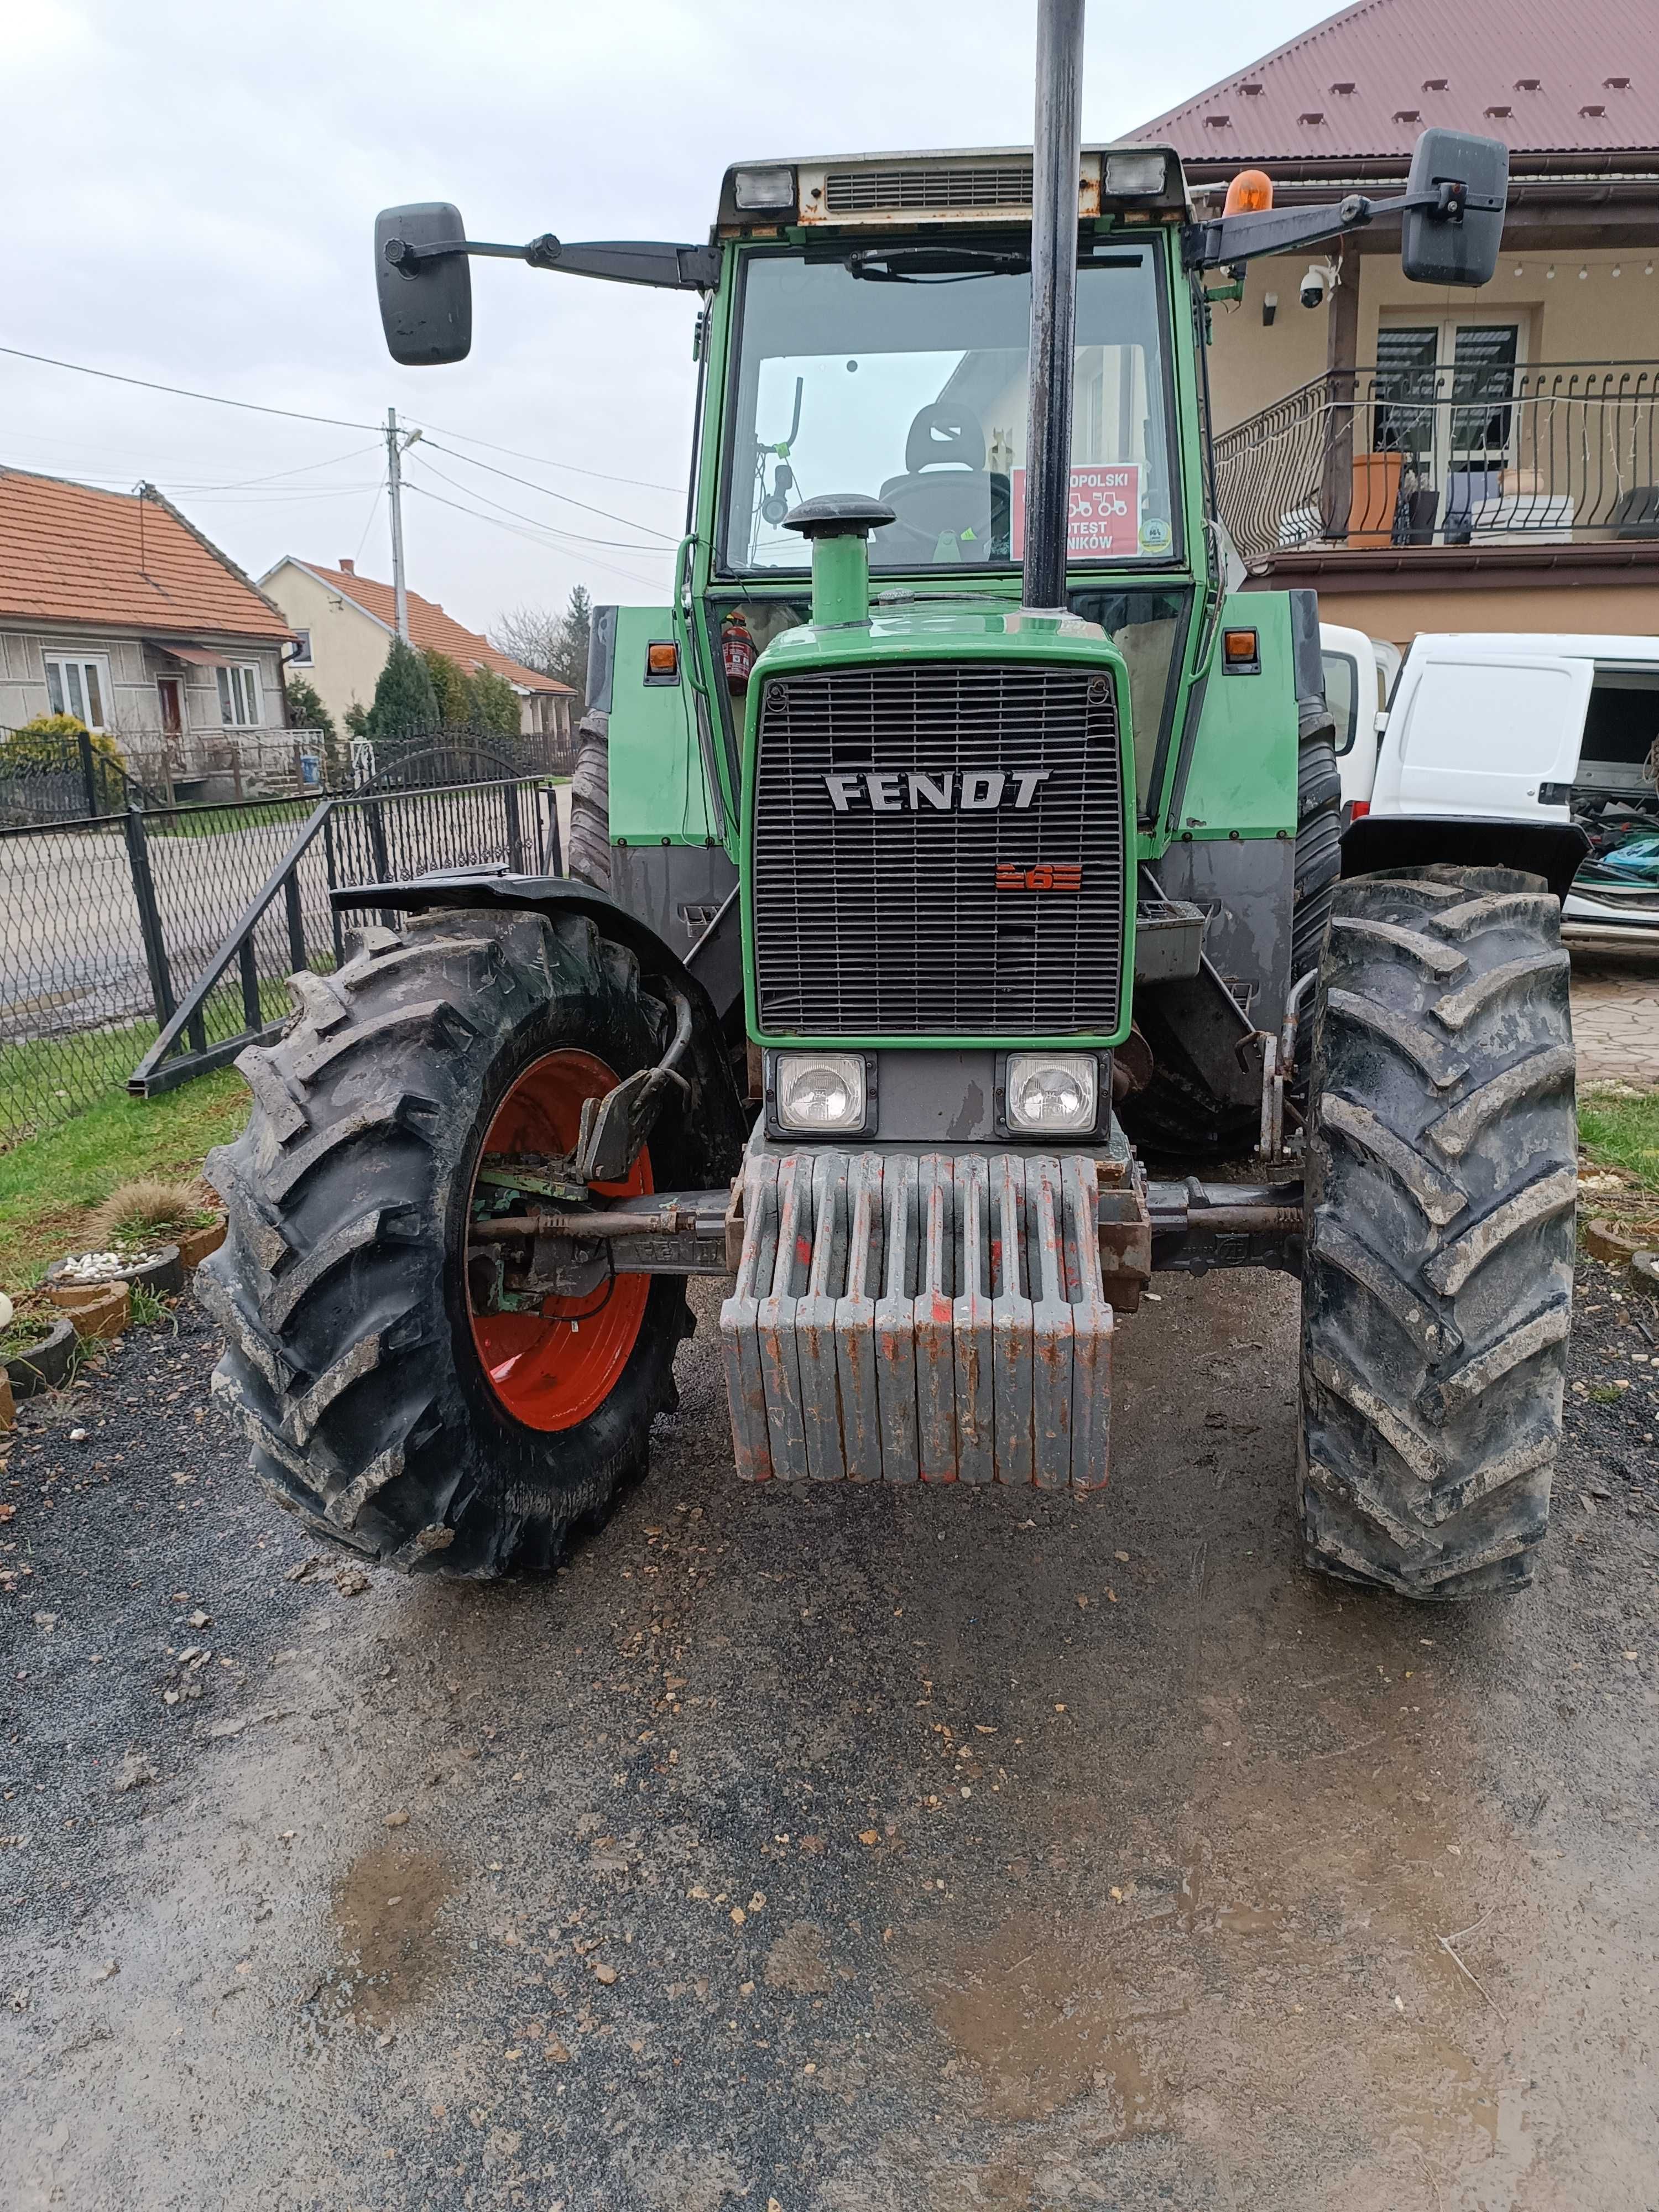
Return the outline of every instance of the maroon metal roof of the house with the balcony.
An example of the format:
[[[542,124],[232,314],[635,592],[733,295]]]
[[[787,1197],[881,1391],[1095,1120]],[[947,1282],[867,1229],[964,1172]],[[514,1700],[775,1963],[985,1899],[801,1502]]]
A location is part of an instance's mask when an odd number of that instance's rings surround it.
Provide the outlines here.
[[[1655,0],[1358,0],[1135,131],[1190,161],[1402,157],[1444,124],[1511,153],[1659,148]]]

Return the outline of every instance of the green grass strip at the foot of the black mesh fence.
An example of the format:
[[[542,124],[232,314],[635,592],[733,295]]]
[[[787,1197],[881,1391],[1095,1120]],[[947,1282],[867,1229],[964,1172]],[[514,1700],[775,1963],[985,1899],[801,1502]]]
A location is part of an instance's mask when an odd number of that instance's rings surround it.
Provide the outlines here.
[[[75,1250],[84,1212],[135,1175],[190,1177],[248,1119],[234,1068],[159,1099],[117,1093],[60,1128],[0,1152],[0,1287],[13,1296]]]

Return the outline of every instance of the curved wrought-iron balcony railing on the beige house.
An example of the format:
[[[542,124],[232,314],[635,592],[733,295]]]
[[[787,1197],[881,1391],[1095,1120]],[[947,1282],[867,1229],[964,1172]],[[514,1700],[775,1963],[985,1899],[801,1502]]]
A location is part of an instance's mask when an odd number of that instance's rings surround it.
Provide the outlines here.
[[[1248,562],[1376,546],[1659,542],[1659,367],[1334,369],[1214,442]]]

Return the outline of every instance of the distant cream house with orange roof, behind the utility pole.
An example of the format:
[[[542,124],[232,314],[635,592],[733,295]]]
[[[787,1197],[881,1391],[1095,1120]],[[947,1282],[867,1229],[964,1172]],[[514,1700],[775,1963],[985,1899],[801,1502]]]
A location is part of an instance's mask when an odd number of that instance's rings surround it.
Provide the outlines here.
[[[392,584],[358,575],[352,560],[327,568],[321,562],[285,555],[261,575],[259,588],[270,593],[292,622],[296,648],[290,668],[316,686],[334,721],[345,723],[354,706],[369,706],[392,639],[398,635]],[[407,593],[407,606],[409,644],[416,653],[445,653],[467,675],[491,668],[498,677],[507,677],[520,699],[520,730],[568,745],[575,701],[568,684],[557,684],[498,653],[487,637],[465,628],[418,591]]]

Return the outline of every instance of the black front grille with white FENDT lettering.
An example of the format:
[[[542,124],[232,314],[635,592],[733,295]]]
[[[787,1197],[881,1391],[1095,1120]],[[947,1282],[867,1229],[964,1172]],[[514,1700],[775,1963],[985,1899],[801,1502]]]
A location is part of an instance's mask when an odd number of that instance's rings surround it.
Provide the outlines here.
[[[1000,803],[962,805],[998,779]],[[752,880],[772,1035],[1110,1035],[1126,885],[1110,677],[1024,661],[774,677]]]

